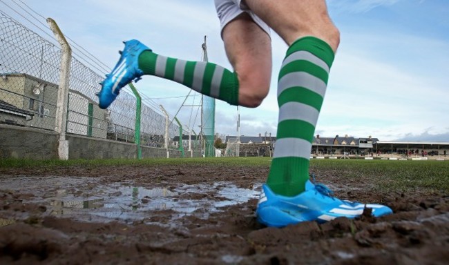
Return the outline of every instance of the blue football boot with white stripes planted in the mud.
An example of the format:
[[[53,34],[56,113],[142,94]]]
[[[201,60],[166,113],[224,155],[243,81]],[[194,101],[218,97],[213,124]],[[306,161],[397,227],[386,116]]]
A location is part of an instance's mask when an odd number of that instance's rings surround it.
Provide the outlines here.
[[[305,191],[295,197],[276,195],[264,184],[257,205],[258,222],[266,226],[283,227],[299,222],[323,223],[336,217],[354,218],[363,214],[364,208],[371,208],[374,217],[393,213],[381,204],[361,204],[332,197],[332,190],[323,184],[307,181]]]

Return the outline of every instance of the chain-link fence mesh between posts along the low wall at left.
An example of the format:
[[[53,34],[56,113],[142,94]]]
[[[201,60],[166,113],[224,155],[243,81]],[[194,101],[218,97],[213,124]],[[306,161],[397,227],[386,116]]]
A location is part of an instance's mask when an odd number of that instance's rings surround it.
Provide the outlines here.
[[[0,11],[0,123],[54,130],[60,65],[59,46]],[[95,93],[103,79],[72,57],[66,133],[135,143],[136,98],[122,91],[102,110]],[[164,148],[167,117],[144,104],[140,113],[141,146]],[[179,130],[169,123],[169,148],[180,148]]]

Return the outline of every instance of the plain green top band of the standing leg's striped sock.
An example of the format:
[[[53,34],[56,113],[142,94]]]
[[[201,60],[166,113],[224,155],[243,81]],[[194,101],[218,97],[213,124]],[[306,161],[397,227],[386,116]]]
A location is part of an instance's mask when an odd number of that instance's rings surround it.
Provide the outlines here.
[[[307,50],[308,52],[311,52],[316,57],[325,61],[329,68],[332,66],[335,57],[334,50],[332,50],[327,42],[312,36],[302,37],[294,41],[292,45],[289,46],[285,57],[288,57],[298,50]]]

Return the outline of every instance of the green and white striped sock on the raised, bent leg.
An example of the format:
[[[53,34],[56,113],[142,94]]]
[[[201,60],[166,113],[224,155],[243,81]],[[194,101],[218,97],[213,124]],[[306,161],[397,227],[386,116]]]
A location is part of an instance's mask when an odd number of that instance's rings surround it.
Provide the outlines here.
[[[238,105],[238,78],[222,66],[206,61],[184,61],[145,50],[139,56],[144,75],[155,75],[187,86],[202,95]]]

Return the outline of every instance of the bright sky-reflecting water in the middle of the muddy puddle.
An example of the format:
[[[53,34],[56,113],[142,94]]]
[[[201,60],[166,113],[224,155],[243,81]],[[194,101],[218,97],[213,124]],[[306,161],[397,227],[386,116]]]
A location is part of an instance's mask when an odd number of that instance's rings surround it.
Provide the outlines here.
[[[260,185],[258,186],[260,187]],[[201,209],[199,216],[207,218],[220,207],[247,202],[258,197],[258,188],[238,188],[219,182],[213,185],[184,185],[178,188],[144,188],[111,184],[97,188],[95,195],[74,195],[67,189],[56,190],[50,199],[52,215],[78,215],[137,220],[151,215],[155,210],[173,210],[172,218],[192,215]],[[90,193],[92,193],[90,191]],[[195,199],[200,197],[200,199]],[[191,199],[193,198],[193,199]]]

